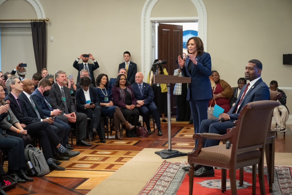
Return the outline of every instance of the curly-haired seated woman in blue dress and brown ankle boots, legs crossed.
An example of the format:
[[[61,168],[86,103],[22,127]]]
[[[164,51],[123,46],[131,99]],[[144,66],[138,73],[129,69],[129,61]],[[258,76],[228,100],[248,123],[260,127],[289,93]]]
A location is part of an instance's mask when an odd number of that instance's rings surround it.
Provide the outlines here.
[[[135,126],[131,125],[124,118],[120,108],[114,106],[112,98],[109,94],[108,88],[108,77],[106,74],[100,74],[96,78],[96,90],[98,92],[100,106],[102,107],[102,116],[109,116],[114,118],[114,126],[116,127],[115,137],[118,140],[122,140],[119,133],[120,121],[126,125],[128,130],[132,130]]]

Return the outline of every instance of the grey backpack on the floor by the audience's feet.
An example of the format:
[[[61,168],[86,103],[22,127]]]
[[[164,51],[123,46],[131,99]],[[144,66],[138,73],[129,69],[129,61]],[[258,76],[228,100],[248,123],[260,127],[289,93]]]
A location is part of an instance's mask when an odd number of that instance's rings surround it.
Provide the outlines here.
[[[25,158],[32,162],[32,166],[36,170],[36,176],[46,175],[50,172],[44,154],[40,149],[28,144],[24,149],[24,154]]]

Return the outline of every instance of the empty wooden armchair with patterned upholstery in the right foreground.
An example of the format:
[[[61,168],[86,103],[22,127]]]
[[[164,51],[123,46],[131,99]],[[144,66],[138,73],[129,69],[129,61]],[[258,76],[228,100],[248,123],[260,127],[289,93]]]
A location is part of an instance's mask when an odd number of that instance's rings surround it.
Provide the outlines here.
[[[237,194],[235,171],[237,168],[253,165],[253,194],[256,191],[256,164],[258,164],[258,176],[260,192],[265,194],[263,156],[267,138],[267,129],[270,127],[276,101],[255,101],[242,108],[237,126],[224,135],[219,134],[194,134],[198,139],[198,145],[192,153],[188,154],[190,163],[190,188],[193,191],[194,164],[207,165],[222,168],[221,192],[226,191],[226,169],[229,169],[231,193]],[[202,148],[203,139],[228,139],[231,140],[230,149],[226,145]]]

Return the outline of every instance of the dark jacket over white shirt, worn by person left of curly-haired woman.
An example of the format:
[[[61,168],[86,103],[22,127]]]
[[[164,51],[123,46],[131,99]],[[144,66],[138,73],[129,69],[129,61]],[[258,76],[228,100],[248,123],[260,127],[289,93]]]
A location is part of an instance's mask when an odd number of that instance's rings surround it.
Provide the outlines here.
[[[91,102],[95,104],[95,106],[99,106],[99,96],[98,92],[96,91],[95,88],[89,87],[89,96]],[[76,91],[76,104],[77,104],[77,111],[82,110],[86,111],[87,109],[84,108],[84,104],[86,104],[85,96],[84,96],[84,91],[83,88],[77,89]]]

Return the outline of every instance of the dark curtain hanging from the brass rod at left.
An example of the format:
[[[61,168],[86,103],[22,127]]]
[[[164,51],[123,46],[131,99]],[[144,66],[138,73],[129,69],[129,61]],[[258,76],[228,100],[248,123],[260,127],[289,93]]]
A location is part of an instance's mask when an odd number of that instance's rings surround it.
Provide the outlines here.
[[[40,73],[42,68],[47,68],[46,22],[31,22],[30,25],[36,70]]]

